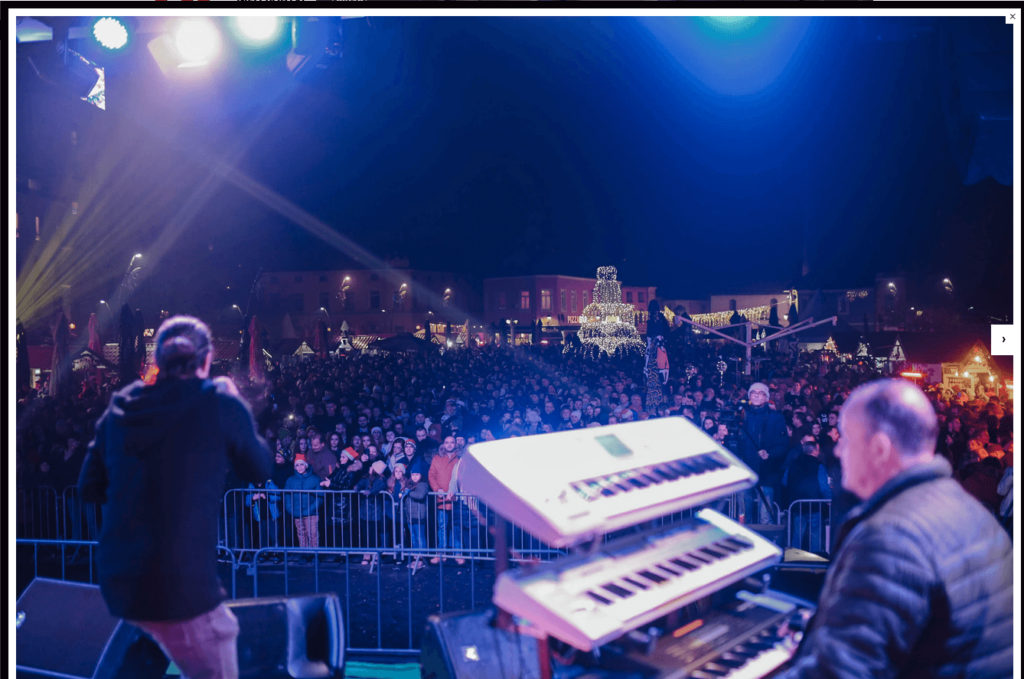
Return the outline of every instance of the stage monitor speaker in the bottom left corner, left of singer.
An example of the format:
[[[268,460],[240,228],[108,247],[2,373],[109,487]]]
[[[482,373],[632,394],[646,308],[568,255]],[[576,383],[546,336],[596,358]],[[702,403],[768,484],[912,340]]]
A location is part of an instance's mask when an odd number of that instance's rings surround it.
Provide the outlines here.
[[[169,665],[150,637],[111,616],[95,585],[36,578],[16,613],[17,679],[161,679]]]

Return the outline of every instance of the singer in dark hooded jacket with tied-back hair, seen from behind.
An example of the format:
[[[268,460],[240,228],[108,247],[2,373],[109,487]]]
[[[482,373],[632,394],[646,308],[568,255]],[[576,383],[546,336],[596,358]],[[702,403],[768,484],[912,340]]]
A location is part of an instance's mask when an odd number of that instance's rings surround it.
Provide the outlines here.
[[[217,517],[228,466],[266,480],[271,456],[227,378],[210,380],[210,333],[174,316],[157,336],[157,383],[121,389],[96,423],[79,486],[102,505],[97,576],[112,614],[142,628],[188,677],[238,677],[238,621],[222,604]]]

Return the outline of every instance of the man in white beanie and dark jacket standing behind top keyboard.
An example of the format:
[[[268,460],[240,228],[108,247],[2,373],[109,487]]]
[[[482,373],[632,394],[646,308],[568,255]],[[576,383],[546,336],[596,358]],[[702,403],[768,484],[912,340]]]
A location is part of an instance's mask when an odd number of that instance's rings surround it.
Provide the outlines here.
[[[759,485],[765,499],[774,502],[775,486],[782,477],[782,463],[790,450],[790,434],[785,430],[785,418],[768,407],[768,387],[761,382],[751,385],[748,392],[751,400],[739,432],[739,458],[761,478]],[[749,522],[760,520],[770,523],[771,505],[759,502],[756,490],[743,494],[743,513]],[[756,511],[760,507],[760,512]]]

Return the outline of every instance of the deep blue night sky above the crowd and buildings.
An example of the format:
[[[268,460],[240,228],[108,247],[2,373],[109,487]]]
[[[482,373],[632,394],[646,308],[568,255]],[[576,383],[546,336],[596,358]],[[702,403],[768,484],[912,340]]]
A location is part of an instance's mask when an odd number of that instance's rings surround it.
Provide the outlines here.
[[[866,19],[882,20],[920,24]],[[152,247],[174,206],[195,208],[164,258],[193,267],[194,285],[345,261],[236,185],[207,183],[197,201],[207,173],[180,168],[201,150],[414,267],[615,264],[628,284],[693,298],[796,282],[807,241],[821,287],[948,275],[1009,313],[1012,187],[963,184],[937,33],[872,41],[864,22],[346,19],[341,62],[314,84],[255,58],[189,98],[155,69],[112,74],[97,125],[119,153],[146,155],[119,195],[176,192],[125,248]]]

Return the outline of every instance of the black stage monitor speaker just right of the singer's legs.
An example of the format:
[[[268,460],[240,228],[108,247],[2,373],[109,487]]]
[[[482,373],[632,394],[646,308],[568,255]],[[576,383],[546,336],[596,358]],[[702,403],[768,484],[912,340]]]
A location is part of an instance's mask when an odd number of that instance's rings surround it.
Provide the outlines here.
[[[239,679],[341,676],[345,628],[335,594],[226,601],[239,619]]]

